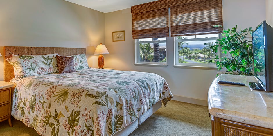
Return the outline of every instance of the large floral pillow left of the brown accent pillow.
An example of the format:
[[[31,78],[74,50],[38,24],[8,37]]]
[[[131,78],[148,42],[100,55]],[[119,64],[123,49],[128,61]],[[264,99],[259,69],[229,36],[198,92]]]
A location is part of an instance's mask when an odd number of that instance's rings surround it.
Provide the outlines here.
[[[21,78],[25,76],[58,73],[56,55],[22,55],[13,56],[6,60],[13,66],[14,76]]]

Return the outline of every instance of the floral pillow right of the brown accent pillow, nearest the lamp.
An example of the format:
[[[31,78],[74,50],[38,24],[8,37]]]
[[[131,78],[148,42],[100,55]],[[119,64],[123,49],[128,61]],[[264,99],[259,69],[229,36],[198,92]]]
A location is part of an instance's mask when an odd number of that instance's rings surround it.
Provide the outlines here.
[[[74,59],[75,70],[89,68],[85,54],[72,55]]]

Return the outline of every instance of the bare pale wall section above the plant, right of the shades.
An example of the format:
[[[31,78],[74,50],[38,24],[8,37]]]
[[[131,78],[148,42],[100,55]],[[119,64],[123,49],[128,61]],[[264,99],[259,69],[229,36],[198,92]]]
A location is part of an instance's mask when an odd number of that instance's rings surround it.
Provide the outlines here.
[[[222,0],[224,27],[252,27],[254,30],[265,20],[265,0]]]

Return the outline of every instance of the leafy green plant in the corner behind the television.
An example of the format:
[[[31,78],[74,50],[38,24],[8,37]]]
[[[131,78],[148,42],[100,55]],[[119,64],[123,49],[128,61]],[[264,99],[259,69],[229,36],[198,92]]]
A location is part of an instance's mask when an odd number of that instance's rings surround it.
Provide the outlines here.
[[[222,27],[222,25],[214,25],[213,27]],[[225,74],[237,74],[237,75],[253,75],[253,50],[252,41],[246,36],[252,34],[252,27],[238,31],[237,25],[232,29],[225,30],[223,28],[222,38],[217,39],[215,45],[210,48],[215,52],[215,57],[210,60],[216,61],[216,67],[218,70],[222,70],[223,67],[227,71],[222,72]],[[217,52],[224,55],[219,57]],[[218,75],[218,74],[217,74]]]

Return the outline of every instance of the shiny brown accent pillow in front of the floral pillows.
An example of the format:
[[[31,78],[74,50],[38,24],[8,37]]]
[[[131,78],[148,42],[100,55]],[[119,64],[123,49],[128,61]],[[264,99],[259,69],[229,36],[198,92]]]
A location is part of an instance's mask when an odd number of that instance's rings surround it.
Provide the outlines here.
[[[59,74],[76,72],[73,57],[56,55]]]

